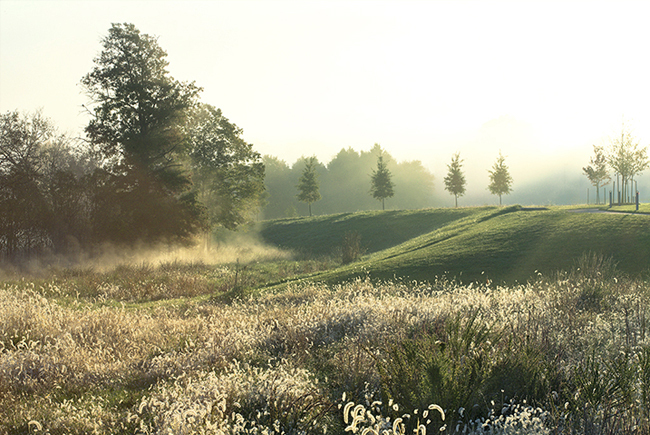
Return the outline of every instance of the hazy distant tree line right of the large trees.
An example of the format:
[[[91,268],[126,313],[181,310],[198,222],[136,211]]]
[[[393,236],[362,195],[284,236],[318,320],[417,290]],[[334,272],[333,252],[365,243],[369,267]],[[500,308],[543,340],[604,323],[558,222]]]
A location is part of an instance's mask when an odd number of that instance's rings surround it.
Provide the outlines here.
[[[389,208],[417,209],[434,203],[433,174],[417,160],[396,162],[378,144],[369,151],[343,148],[327,164],[315,157],[289,165],[264,156],[263,162],[264,219],[308,215],[312,209],[319,215],[373,210],[377,201],[384,209],[389,198]]]

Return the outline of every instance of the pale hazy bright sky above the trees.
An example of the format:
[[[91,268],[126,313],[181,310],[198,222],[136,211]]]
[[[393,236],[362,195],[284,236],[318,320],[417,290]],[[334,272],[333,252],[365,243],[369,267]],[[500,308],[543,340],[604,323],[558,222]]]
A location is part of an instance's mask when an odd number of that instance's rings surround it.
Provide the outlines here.
[[[579,176],[623,119],[650,143],[648,17],[620,0],[0,0],[0,110],[81,134],[79,82],[130,22],[263,154],[379,143],[441,184],[460,151],[484,192],[501,149],[516,188],[555,166]]]

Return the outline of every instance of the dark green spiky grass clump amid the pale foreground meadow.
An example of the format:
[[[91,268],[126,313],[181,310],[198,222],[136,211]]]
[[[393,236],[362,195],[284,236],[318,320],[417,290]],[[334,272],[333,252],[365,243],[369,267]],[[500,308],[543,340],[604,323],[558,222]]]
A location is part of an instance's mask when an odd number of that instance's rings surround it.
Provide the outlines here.
[[[495,402],[541,403],[561,380],[542,346],[480,309],[460,311],[387,345],[387,357],[378,364],[382,397],[408,408],[437,403],[463,409],[465,423],[488,418]]]

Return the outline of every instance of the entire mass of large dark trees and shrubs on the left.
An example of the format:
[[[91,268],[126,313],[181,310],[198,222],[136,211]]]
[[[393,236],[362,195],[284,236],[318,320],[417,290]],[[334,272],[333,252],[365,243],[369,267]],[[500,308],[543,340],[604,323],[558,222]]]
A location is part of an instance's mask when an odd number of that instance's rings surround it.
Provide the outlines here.
[[[167,71],[156,38],[113,24],[81,80],[86,137],[0,117],[0,257],[188,243],[257,211],[264,164],[242,130]]]

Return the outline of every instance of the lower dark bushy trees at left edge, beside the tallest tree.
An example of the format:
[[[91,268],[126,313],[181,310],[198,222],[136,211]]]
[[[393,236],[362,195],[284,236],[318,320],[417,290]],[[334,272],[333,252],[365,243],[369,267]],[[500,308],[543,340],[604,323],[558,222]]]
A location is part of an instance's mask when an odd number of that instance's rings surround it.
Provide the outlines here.
[[[40,112],[0,116],[0,258],[69,251],[92,240],[95,162]]]

